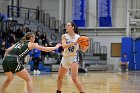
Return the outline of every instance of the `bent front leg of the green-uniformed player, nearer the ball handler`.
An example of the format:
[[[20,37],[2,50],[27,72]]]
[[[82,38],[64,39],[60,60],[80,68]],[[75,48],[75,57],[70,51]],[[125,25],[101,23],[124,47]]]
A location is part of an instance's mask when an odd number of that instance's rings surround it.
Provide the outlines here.
[[[24,68],[23,70],[17,72],[16,75],[21,77],[27,82],[28,93],[33,93],[33,81],[28,71]]]

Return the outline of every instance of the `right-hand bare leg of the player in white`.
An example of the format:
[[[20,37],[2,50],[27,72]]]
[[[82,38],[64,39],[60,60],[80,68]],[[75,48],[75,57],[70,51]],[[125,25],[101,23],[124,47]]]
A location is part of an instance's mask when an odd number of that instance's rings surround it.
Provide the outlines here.
[[[80,91],[80,93],[84,93],[82,84],[78,80],[78,64],[76,62],[71,63],[70,69],[71,69],[71,77],[73,82],[75,83],[76,87]]]

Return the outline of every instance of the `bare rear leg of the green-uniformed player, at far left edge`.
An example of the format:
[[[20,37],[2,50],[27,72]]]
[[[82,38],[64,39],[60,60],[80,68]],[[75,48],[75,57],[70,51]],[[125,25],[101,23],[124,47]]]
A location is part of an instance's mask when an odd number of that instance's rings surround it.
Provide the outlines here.
[[[12,72],[5,72],[5,75],[7,76],[7,79],[4,81],[4,83],[1,85],[0,92],[4,92],[5,89],[9,86],[11,81],[14,79]]]

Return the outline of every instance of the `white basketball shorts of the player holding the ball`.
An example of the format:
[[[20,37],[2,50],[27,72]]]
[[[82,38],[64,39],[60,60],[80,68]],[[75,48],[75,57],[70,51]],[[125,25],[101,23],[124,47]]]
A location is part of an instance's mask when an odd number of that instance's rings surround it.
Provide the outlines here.
[[[60,65],[63,66],[66,69],[70,68],[71,63],[78,63],[79,57],[78,56],[68,56],[68,57],[62,57]]]

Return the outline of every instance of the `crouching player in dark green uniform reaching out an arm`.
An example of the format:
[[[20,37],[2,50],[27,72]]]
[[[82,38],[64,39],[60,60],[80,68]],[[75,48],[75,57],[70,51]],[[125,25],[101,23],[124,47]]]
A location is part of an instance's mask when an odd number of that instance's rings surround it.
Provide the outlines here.
[[[61,46],[61,44],[57,44],[55,47],[42,47],[38,45],[37,43],[34,43],[35,41],[35,35],[32,32],[28,32],[25,34],[25,36],[22,38],[21,42],[18,42],[8,48],[5,52],[4,58],[3,58],[3,69],[4,73],[7,76],[7,79],[0,87],[0,93],[4,92],[5,89],[8,87],[8,85],[13,80],[14,76],[13,74],[16,73],[17,76],[24,79],[27,82],[27,91],[28,93],[34,93],[33,92],[33,82],[30,74],[28,71],[22,66],[22,63],[20,62],[23,58],[27,56],[30,50],[33,48],[50,52],[53,51]]]

